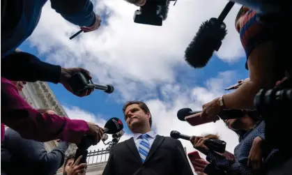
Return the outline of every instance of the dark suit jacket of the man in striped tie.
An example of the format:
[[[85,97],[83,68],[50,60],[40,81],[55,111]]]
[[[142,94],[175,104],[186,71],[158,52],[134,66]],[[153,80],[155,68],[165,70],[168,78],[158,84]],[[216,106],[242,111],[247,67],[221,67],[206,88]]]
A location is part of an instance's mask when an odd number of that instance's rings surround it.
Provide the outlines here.
[[[116,144],[102,175],[193,175],[178,139],[156,135],[144,163],[134,139]]]

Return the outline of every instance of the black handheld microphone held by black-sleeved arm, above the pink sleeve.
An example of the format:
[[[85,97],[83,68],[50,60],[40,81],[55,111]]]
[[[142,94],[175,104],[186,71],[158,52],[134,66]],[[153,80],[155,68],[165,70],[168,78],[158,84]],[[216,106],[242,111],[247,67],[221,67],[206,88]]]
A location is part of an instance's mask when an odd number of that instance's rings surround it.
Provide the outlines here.
[[[114,86],[111,84],[94,84],[91,79],[87,79],[82,73],[75,73],[72,75],[72,77],[69,79],[69,85],[72,91],[76,94],[82,94],[82,92],[89,89],[98,89],[105,91],[106,93],[114,92]]]

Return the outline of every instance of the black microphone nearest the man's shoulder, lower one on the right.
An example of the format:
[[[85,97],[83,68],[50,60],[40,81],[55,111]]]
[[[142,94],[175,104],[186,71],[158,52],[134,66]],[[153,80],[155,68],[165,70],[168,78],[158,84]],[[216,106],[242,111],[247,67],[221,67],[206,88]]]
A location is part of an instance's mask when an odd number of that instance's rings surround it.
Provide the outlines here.
[[[172,130],[170,132],[170,137],[174,139],[186,139],[190,141],[190,136],[188,135],[182,135],[177,130]],[[208,147],[210,151],[215,151],[218,153],[224,153],[226,149],[226,142],[220,140],[220,139],[207,139],[205,141],[205,145]]]

